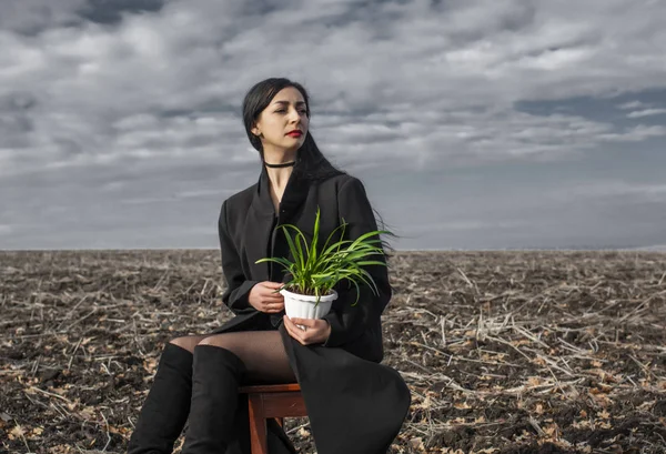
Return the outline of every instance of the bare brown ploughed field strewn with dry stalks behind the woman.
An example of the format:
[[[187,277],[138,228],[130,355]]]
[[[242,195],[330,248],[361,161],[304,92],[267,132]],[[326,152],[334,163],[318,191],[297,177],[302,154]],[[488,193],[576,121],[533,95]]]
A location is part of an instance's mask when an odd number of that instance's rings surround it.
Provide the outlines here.
[[[412,391],[391,453],[666,452],[666,254],[390,266],[384,363]],[[219,251],[0,252],[0,452],[123,453],[164,344],[232,316],[221,275]]]

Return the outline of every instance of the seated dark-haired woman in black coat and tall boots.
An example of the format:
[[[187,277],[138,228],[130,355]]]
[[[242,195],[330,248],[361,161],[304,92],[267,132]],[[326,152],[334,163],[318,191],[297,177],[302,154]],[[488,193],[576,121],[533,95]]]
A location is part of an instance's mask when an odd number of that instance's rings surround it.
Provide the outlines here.
[[[276,290],[285,281],[264,256],[287,256],[278,225],[320,235],[344,219],[345,239],[376,230],[363,184],[335,169],[309,132],[307,93],[287,79],[266,79],[245,95],[243,119],[259,151],[259,182],[222,204],[219,220],[224,304],[235,314],[213,333],[168,343],[129,444],[129,454],[170,453],[189,416],[183,453],[250,453],[244,383],[301,384],[320,454],[385,453],[410,407],[410,392],[383,357],[380,315],[391,299],[385,266],[370,266],[380,290],[337,285],[321,320],[289,319]],[[302,330],[296,324],[304,325]],[[278,424],[271,453],[295,452]]]

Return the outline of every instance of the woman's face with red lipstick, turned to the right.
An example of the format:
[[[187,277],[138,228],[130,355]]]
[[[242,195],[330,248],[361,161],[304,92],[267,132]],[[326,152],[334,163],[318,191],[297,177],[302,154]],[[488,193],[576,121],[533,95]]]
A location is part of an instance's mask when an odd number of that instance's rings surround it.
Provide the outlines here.
[[[301,148],[307,134],[310,121],[305,112],[305,101],[301,92],[287,87],[280,90],[261,112],[252,133],[263,134],[261,142],[264,152],[295,151]],[[301,135],[290,134],[293,130],[300,130]]]

